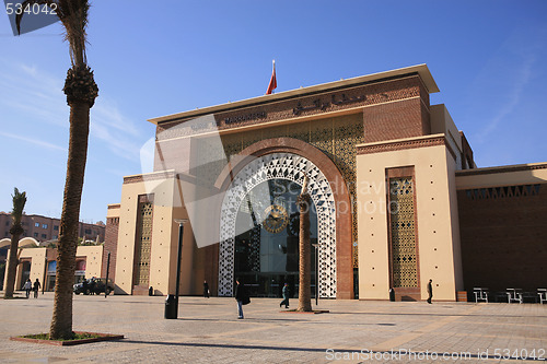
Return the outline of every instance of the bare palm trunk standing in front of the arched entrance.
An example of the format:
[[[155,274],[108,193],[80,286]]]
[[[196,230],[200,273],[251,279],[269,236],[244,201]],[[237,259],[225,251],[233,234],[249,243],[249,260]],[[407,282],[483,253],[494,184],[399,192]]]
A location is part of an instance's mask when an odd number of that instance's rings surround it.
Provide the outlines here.
[[[296,201],[300,210],[300,279],[299,279],[299,307],[298,312],[312,310],[311,293],[311,242],[310,242],[310,195],[302,193]]]

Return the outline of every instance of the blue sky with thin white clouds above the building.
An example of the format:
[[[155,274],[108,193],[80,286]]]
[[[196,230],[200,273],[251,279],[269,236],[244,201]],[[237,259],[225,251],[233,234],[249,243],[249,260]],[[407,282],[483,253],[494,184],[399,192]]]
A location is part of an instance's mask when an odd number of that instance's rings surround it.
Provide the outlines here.
[[[547,1],[92,1],[100,97],[80,219],[105,221],[141,173],[147,119],[427,63],[479,167],[547,162]],[[0,14],[0,211],[59,216],[70,67],[59,24],[14,37]]]

